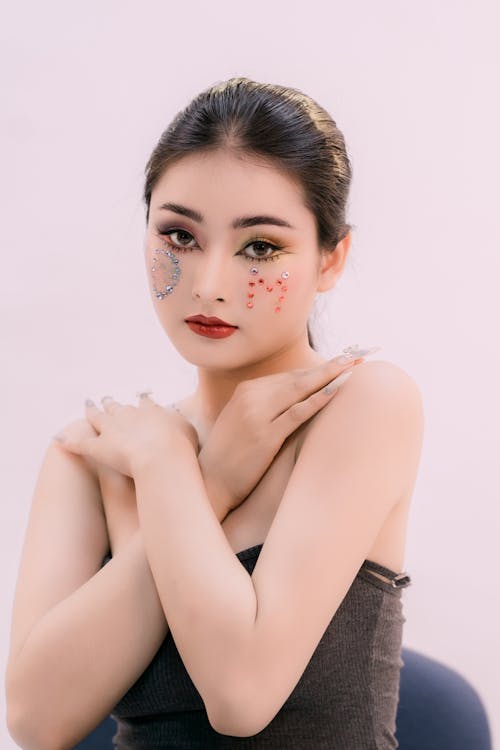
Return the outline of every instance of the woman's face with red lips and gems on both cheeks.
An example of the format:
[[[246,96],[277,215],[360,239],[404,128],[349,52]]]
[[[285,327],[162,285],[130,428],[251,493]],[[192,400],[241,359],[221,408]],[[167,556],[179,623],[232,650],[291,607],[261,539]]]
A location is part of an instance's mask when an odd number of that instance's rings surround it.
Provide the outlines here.
[[[169,167],[152,192],[145,259],[158,318],[187,361],[245,367],[307,341],[320,267],[314,216],[269,163],[220,150]],[[193,315],[236,329],[204,336],[186,323]]]

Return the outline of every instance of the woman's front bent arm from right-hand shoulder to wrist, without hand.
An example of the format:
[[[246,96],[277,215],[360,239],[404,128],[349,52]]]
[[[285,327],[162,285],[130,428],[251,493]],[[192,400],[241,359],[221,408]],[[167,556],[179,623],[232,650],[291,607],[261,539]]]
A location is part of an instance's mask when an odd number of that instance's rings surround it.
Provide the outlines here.
[[[192,446],[172,440],[136,457],[150,568],[217,731],[255,734],[290,695],[414,481],[421,438],[411,378],[390,363],[358,368],[309,431],[252,576],[216,521]]]

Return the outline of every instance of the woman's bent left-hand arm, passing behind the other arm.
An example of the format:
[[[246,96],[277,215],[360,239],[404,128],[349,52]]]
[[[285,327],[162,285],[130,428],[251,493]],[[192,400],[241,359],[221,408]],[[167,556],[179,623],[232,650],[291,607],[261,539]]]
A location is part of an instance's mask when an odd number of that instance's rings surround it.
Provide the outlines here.
[[[89,425],[81,420],[66,432],[75,428],[83,434]],[[72,748],[168,632],[140,532],[131,528],[128,519],[116,525],[114,557],[99,569],[108,538],[95,471],[52,444],[34,493],[6,674],[9,731],[26,750]]]

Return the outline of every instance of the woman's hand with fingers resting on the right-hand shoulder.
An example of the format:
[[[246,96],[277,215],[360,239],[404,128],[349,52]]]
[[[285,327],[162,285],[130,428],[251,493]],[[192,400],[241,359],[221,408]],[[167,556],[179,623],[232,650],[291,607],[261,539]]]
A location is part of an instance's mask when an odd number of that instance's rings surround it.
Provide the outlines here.
[[[331,401],[336,391],[325,393],[324,386],[378,348],[354,348],[350,362],[336,357],[309,369],[239,383],[198,455],[209,495],[228,513],[238,507],[285,439]]]

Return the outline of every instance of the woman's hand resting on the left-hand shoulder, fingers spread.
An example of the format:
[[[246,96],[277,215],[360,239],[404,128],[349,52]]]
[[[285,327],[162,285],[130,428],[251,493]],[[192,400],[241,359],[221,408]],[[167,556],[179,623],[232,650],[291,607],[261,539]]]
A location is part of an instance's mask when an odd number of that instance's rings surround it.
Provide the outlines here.
[[[155,403],[141,394],[139,407],[120,404],[109,396],[102,399],[104,411],[95,404],[85,406],[86,418],[98,433],[95,437],[76,440],[60,435],[61,445],[72,453],[88,456],[125,476],[133,476],[133,463],[145,451],[162,442],[187,438],[198,450],[194,427],[173,409]],[[66,438],[66,439],[65,439]]]

